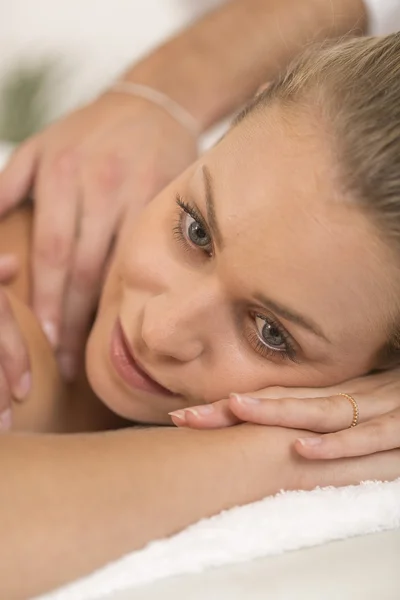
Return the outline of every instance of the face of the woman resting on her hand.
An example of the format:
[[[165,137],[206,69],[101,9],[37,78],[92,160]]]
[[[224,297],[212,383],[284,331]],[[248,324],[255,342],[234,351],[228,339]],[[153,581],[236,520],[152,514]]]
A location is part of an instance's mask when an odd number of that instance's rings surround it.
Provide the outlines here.
[[[230,392],[331,385],[373,366],[394,268],[340,196],[326,137],[278,107],[250,115],[132,210],[87,348],[112,410],[168,423]]]

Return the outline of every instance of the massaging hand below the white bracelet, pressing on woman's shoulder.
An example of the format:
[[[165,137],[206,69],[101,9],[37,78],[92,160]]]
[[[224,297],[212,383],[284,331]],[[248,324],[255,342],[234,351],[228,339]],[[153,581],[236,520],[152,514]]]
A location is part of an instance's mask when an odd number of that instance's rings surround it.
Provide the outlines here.
[[[35,201],[33,308],[67,378],[124,211],[195,158],[192,135],[161,108],[108,93],[22,144],[0,174],[0,216]]]

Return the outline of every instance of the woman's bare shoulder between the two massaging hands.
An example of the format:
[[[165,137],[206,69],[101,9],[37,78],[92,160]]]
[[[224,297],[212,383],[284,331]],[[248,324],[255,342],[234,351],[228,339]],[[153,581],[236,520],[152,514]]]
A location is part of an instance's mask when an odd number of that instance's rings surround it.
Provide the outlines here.
[[[15,254],[20,263],[17,277],[4,288],[28,346],[33,379],[27,400],[13,404],[13,430],[68,433],[120,427],[120,418],[91,391],[84,365],[76,384],[62,380],[54,351],[30,307],[32,217],[28,207],[0,221],[0,254]]]

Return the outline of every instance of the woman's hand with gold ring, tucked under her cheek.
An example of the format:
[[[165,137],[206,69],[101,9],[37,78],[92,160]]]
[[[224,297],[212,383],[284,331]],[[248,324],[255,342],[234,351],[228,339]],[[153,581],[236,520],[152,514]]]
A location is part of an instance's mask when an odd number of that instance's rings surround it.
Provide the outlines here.
[[[353,406],[359,424],[350,428]],[[400,448],[400,369],[360,377],[329,388],[271,387],[254,394],[177,411],[176,425],[196,429],[227,427],[244,421],[321,433],[295,442],[309,459],[362,456]]]

